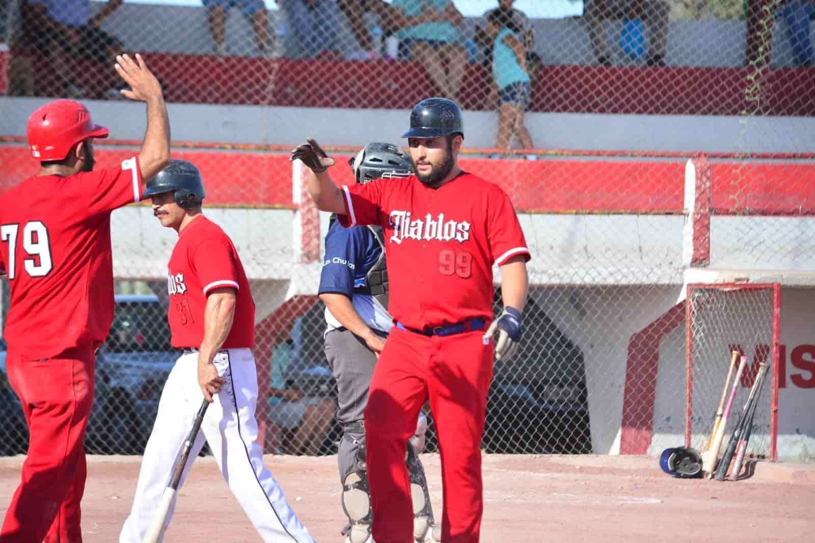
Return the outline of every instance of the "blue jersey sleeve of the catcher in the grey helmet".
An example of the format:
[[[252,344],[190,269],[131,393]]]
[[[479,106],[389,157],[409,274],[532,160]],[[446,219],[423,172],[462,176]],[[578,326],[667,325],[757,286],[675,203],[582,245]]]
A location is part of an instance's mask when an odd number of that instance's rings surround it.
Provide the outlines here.
[[[354,294],[355,270],[362,263],[359,231],[359,228],[345,228],[336,222],[328,230],[318,294],[337,292],[349,298]]]

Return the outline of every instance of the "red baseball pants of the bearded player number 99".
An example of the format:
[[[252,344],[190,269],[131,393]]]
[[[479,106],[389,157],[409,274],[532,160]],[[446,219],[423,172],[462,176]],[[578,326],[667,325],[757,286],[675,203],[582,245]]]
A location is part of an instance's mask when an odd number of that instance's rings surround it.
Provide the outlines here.
[[[407,439],[425,401],[438,431],[444,543],[478,543],[483,511],[481,438],[492,379],[483,331],[425,336],[393,329],[373,371],[365,447],[377,543],[412,543]]]

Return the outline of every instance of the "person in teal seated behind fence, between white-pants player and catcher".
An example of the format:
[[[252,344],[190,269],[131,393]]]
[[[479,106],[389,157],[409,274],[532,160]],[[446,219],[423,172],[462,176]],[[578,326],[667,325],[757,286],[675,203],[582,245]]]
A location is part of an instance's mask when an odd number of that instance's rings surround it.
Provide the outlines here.
[[[287,386],[286,376],[294,362],[291,338],[275,345],[271,353],[268,417],[272,453],[316,456],[331,426],[336,406],[328,398],[308,396],[296,383]],[[281,440],[283,432],[293,433]],[[275,443],[276,439],[276,443]]]

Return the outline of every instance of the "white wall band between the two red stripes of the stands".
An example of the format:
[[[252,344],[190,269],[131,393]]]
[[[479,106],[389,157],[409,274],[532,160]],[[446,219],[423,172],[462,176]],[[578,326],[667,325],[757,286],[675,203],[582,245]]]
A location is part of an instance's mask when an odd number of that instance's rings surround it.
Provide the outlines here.
[[[0,97],[0,134],[24,136],[29,114],[46,101]],[[86,104],[96,122],[110,126],[112,138],[143,138],[143,104],[92,100]],[[372,141],[403,145],[409,120],[407,110],[185,103],[171,103],[168,110],[176,142],[289,146],[313,137],[328,146],[363,147]],[[464,119],[465,150],[495,145],[495,112],[465,112]],[[815,152],[815,117],[529,113],[526,125],[541,149]]]

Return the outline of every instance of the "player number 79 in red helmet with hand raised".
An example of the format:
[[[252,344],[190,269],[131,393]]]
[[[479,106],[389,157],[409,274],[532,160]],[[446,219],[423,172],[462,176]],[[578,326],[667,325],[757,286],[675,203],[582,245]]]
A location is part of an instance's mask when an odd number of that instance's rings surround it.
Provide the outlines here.
[[[29,451],[2,543],[82,541],[83,442],[94,395],[95,350],[113,320],[110,214],[141,199],[142,176],[170,162],[161,85],[139,55],[118,56],[128,98],[147,102],[139,155],[94,171],[95,125],[81,103],[57,100],[29,117],[40,171],[0,197],[0,265],[11,287],[5,337],[11,388],[29,426]]]

